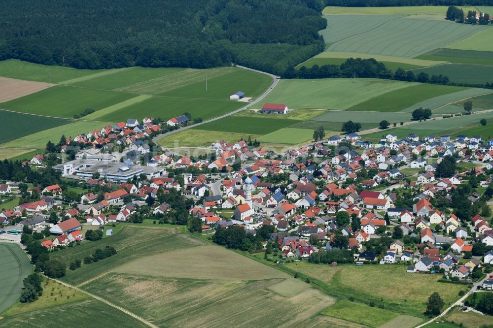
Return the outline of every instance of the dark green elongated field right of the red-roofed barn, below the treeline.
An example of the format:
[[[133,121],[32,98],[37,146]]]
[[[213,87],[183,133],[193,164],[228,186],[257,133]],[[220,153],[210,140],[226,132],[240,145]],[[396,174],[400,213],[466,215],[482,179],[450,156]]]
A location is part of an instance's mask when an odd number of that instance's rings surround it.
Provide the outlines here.
[[[416,105],[421,101],[466,89],[467,88],[465,87],[451,87],[437,84],[412,85],[405,89],[390,91],[386,94],[371,98],[352,106],[348,110],[399,112],[412,105]]]

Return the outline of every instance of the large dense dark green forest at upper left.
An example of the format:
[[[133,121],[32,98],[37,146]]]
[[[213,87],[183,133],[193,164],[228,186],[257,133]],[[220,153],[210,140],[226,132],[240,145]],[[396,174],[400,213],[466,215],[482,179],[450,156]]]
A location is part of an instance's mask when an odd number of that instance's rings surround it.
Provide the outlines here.
[[[0,59],[90,69],[235,63],[279,73],[323,51],[323,6],[323,0],[4,0]]]

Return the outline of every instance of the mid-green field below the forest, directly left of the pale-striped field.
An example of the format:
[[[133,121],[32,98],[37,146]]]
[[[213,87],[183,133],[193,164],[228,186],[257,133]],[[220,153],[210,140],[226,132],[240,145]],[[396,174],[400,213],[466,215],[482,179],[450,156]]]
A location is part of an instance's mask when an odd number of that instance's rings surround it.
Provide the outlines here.
[[[61,83],[85,88],[113,90],[161,78],[182,70],[184,70],[184,68],[126,67],[110,69],[101,73],[86,75],[81,78],[63,81]]]

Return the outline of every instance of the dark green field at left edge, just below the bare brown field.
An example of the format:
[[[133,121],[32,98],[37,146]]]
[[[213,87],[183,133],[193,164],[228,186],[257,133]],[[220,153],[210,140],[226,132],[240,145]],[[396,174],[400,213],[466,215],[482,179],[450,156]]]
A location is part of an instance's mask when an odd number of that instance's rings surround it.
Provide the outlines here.
[[[2,103],[17,112],[73,118],[87,108],[95,111],[135,97],[132,94],[58,85]]]

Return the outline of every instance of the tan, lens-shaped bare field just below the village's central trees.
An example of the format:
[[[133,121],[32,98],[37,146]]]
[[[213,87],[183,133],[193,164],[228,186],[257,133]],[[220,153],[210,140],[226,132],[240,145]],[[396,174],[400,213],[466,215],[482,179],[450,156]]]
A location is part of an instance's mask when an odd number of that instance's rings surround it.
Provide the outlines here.
[[[152,265],[148,265],[152,263]],[[186,268],[186,269],[184,269]],[[112,269],[125,274],[189,279],[261,280],[285,273],[225,248],[206,245],[141,257]]]

